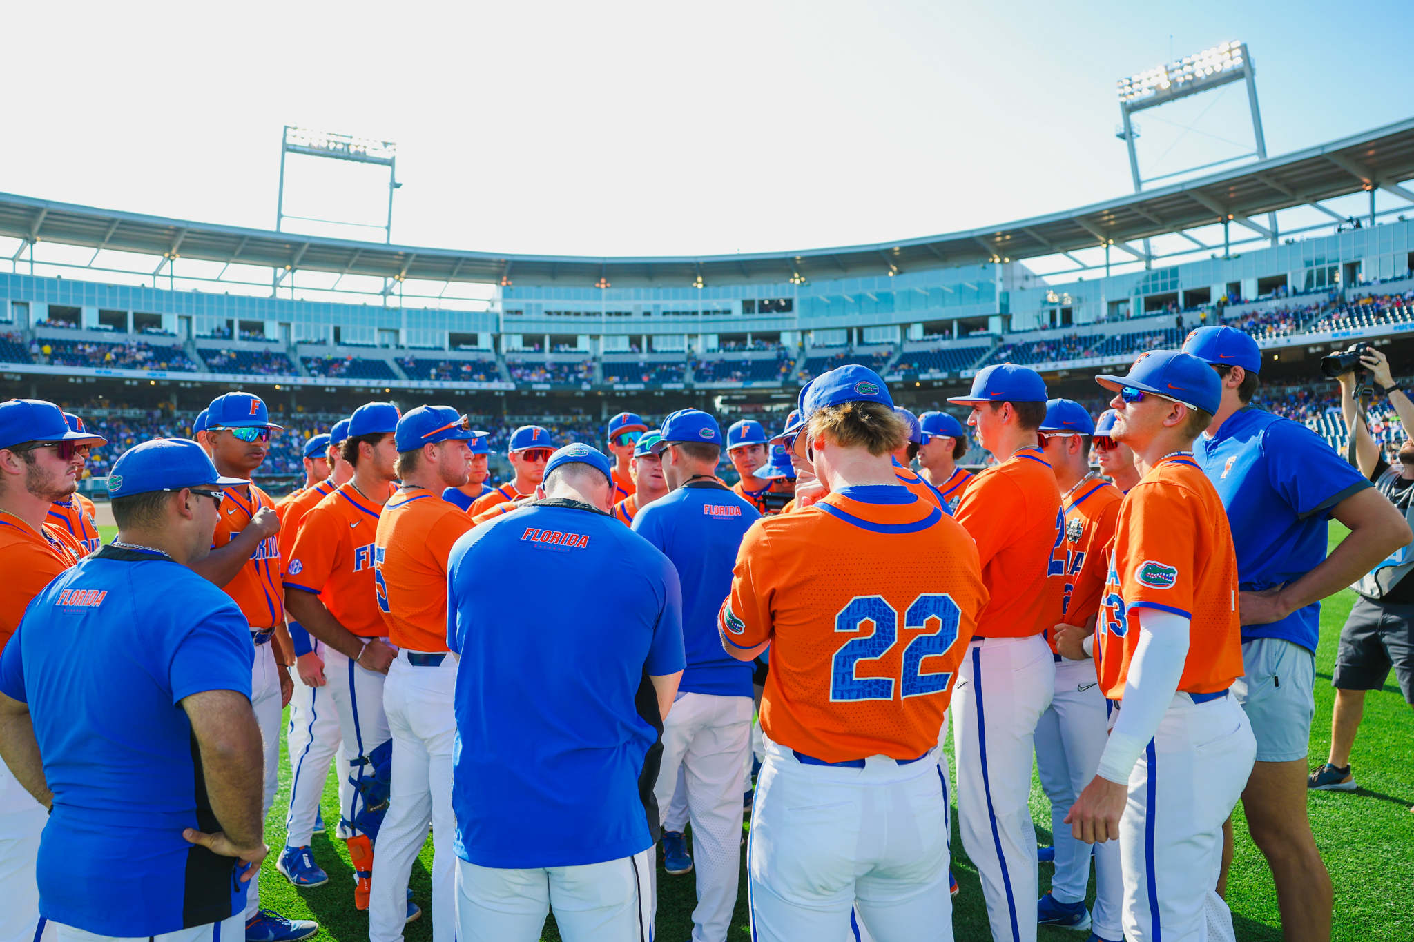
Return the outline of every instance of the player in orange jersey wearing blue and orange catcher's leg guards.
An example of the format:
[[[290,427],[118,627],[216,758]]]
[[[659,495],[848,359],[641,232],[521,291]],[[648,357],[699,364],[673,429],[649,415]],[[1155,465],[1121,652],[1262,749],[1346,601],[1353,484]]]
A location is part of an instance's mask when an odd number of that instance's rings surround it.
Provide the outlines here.
[[[392,734],[383,713],[383,678],[396,650],[383,636],[373,556],[378,518],[396,477],[397,407],[368,403],[349,418],[341,451],[354,477],[305,515],[284,568],[290,616],[324,643],[324,675],[344,732],[355,791],[342,806],[356,886],[368,908],[373,840],[387,811]]]

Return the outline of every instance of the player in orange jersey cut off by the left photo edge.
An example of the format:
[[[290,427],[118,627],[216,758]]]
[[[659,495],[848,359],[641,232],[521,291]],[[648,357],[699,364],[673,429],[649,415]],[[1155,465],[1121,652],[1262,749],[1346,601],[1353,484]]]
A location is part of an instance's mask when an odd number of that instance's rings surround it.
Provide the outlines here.
[[[51,508],[78,487],[81,451],[102,443],[71,429],[52,403],[0,403],[0,572],[8,586],[0,595],[0,651],[30,600],[85,555]],[[0,761],[0,942],[54,942],[34,870],[44,822],[44,806]]]

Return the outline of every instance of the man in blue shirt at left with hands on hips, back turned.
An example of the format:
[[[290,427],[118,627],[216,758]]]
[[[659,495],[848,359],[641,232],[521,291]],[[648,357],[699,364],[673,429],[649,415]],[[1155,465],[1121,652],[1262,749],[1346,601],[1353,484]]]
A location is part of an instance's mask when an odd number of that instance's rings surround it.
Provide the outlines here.
[[[61,926],[245,936],[266,856],[255,651],[236,603],[188,568],[228,483],[192,441],[126,452],[117,539],[35,596],[0,657],[0,749],[51,808],[40,914]]]

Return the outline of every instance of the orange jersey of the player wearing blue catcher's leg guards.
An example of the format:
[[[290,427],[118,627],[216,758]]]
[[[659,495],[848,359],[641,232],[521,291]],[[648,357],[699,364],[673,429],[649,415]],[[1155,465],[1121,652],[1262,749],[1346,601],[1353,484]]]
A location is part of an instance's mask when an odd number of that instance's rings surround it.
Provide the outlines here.
[[[320,596],[339,624],[363,638],[376,638],[387,627],[373,585],[382,510],[354,482],[335,489],[304,515],[284,562],[286,589]]]

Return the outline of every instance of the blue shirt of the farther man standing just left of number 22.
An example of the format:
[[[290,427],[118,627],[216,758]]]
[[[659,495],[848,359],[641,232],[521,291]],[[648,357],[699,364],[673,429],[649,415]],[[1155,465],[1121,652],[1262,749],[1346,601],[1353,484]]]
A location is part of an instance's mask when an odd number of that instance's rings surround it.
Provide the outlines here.
[[[663,551],[683,586],[683,693],[751,696],[751,664],[721,647],[717,612],[731,595],[737,549],[761,514],[715,480],[694,480],[659,497],[633,517],[633,532]]]

